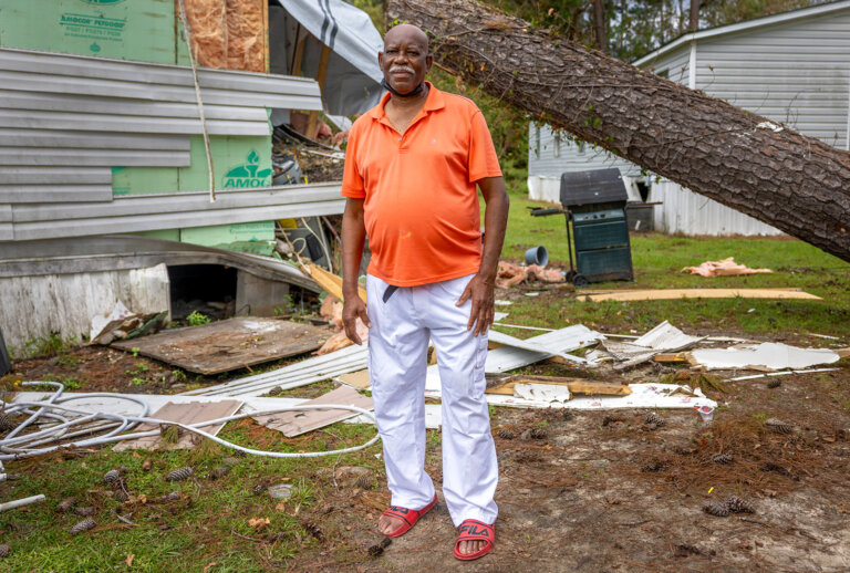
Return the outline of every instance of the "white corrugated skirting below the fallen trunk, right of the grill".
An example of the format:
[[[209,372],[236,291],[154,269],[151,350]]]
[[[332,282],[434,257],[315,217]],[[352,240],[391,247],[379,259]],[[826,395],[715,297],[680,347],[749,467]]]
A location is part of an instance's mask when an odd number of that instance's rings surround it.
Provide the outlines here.
[[[655,206],[655,230],[682,235],[782,235],[782,231],[730,209],[725,205],[697,195],[678,184],[654,183],[650,201]]]

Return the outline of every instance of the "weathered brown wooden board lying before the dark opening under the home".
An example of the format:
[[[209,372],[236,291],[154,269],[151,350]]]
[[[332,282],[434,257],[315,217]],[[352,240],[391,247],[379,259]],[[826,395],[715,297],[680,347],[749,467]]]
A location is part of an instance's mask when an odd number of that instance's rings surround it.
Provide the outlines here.
[[[304,354],[328,329],[277,319],[239,317],[112,344],[198,374],[218,374]]]

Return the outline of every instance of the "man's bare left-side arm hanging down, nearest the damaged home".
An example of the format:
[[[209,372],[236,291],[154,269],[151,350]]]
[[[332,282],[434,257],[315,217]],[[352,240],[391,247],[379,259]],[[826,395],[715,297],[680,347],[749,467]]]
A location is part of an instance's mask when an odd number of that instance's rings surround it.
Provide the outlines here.
[[[362,344],[357,336],[357,317],[367,327],[372,327],[366,314],[366,305],[357,292],[357,274],[360,261],[363,258],[363,246],[366,241],[366,226],[363,222],[363,199],[345,199],[345,211],[342,215],[342,323],[345,335],[354,343]]]

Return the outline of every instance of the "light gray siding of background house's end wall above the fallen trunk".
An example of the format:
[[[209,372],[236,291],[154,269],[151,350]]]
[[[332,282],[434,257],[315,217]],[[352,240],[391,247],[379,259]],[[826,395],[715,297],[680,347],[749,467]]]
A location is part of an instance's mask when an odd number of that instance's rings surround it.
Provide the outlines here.
[[[850,9],[706,39],[697,87],[847,148]]]

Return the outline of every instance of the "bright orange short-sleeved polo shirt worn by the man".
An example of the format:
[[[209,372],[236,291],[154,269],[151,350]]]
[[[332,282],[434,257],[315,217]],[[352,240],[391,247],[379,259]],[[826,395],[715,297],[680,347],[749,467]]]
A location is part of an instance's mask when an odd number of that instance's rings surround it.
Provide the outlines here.
[[[501,176],[480,110],[466,97],[428,87],[404,134],[384,113],[387,93],[354,122],[345,152],[342,195],[365,199],[372,249],[366,272],[396,286],[478,271],[476,181]]]

